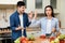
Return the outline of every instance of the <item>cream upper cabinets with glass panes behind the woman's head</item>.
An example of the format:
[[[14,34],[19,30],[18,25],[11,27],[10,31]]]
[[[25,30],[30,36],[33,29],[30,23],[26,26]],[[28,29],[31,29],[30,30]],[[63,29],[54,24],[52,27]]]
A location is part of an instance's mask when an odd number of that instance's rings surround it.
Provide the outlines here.
[[[26,12],[37,11],[38,13],[44,13],[46,5],[52,5],[55,13],[58,12],[60,0],[23,0],[26,3]]]

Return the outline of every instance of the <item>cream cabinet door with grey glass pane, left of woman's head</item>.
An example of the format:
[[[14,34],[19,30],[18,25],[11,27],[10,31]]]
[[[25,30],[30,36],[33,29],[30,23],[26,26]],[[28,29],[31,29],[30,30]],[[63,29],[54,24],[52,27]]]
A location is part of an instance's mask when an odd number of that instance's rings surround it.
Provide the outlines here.
[[[46,5],[50,5],[50,0],[35,0],[35,9],[38,13],[44,13]]]

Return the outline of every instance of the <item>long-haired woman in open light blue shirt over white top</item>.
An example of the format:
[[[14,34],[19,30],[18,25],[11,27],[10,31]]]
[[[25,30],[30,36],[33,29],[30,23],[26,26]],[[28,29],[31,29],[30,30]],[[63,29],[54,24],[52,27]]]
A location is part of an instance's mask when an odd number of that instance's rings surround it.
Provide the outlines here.
[[[51,5],[47,5],[44,8],[44,14],[46,17],[42,17],[39,20],[35,20],[35,18],[31,22],[31,26],[40,25],[41,27],[41,35],[49,35],[49,37],[56,37],[60,32],[58,27],[58,19],[54,17],[53,8]],[[55,32],[57,32],[55,34]]]

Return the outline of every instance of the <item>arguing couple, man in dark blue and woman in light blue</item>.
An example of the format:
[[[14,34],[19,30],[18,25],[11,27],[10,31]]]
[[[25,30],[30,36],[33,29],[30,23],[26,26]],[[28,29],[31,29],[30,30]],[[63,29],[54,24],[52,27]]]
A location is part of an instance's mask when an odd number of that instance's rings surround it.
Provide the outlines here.
[[[17,4],[17,11],[15,11],[10,16],[10,26],[12,29],[12,41],[14,41],[26,35],[26,27],[29,25],[40,25],[41,27],[41,34],[50,34],[54,33],[54,35],[57,35],[60,32],[58,28],[58,19],[54,17],[53,8],[51,5],[47,5],[44,8],[44,15],[46,17],[40,18],[39,20],[36,20],[37,18],[37,12],[35,12],[35,16],[32,17],[32,13],[25,13],[25,3],[23,1],[18,1]],[[22,33],[22,30],[23,33]],[[55,34],[55,31],[57,33]]]

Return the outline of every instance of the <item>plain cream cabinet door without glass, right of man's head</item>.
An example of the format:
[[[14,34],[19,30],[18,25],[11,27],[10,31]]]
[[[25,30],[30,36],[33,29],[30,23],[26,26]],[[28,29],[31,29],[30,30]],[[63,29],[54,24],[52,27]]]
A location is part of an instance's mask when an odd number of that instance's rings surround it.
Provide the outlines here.
[[[26,0],[26,11],[25,12],[30,12],[35,11],[35,0]]]

